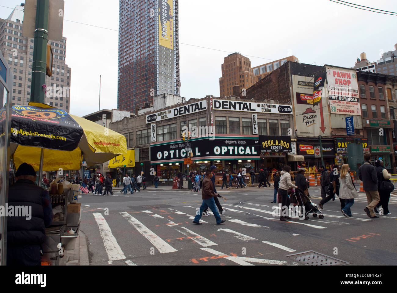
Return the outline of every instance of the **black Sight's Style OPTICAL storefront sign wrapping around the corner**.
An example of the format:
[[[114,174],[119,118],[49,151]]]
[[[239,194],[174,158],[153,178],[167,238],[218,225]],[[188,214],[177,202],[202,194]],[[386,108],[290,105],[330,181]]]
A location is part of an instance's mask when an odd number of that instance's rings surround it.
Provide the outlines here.
[[[260,159],[257,137],[215,137],[189,141],[193,161]],[[151,164],[178,163],[187,158],[185,143],[173,142],[150,145]]]

